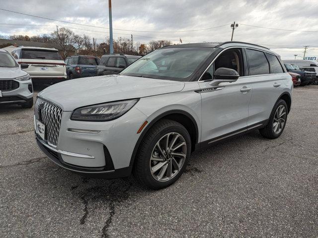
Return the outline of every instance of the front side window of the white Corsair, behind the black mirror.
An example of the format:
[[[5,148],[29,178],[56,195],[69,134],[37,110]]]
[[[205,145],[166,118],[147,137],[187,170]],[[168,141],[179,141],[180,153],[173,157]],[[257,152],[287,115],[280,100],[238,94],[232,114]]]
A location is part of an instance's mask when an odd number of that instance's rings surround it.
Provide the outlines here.
[[[234,69],[239,73],[239,76],[244,76],[241,50],[227,50],[222,53],[204,73],[201,80],[213,79],[215,70],[221,67]]]

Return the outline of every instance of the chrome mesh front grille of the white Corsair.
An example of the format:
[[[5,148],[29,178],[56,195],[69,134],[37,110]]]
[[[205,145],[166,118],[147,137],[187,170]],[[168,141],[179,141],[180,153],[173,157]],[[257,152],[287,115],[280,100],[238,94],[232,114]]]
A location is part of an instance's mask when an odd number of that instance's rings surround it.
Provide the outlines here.
[[[56,146],[61,127],[62,109],[49,101],[37,98],[34,106],[34,115],[36,119],[45,125],[48,143]]]

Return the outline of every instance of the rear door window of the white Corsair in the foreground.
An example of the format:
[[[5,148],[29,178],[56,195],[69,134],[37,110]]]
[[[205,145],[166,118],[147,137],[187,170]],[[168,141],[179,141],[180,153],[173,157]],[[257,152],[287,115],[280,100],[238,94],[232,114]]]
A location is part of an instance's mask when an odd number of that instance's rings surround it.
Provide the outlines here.
[[[248,75],[269,74],[269,64],[261,51],[246,49]]]

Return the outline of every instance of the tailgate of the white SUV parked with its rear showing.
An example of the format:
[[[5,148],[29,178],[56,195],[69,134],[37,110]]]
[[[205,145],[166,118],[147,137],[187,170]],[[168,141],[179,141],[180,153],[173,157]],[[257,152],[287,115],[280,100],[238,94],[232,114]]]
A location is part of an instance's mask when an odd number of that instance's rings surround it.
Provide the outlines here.
[[[31,77],[65,76],[65,62],[57,50],[22,49],[21,61],[28,63],[25,69]]]

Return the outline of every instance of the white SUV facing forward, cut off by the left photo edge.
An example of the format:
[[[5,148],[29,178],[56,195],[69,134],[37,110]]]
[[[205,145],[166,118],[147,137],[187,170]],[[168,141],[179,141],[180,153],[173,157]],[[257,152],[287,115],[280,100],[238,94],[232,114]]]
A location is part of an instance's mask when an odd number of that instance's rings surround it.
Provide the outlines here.
[[[19,104],[23,108],[33,106],[33,88],[30,75],[21,68],[6,51],[0,49],[0,105]]]

